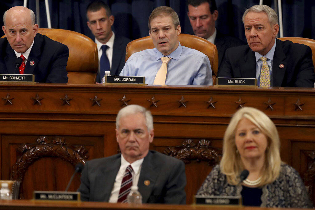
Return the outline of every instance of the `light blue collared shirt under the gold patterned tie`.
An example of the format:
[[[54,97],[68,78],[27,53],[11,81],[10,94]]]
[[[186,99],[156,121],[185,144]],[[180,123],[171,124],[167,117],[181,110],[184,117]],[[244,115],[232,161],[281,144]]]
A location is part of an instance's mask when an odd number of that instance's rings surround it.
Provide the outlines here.
[[[265,56],[267,58],[267,64],[269,67],[269,72],[270,72],[270,86],[272,87],[272,61],[273,61],[273,55],[275,54],[275,49],[276,49],[276,41],[273,44],[272,48],[269,50],[269,52],[266,55],[261,55],[257,52],[255,52],[255,57],[256,57],[256,79],[257,79],[257,85],[260,86],[260,71],[262,68],[262,60],[260,58],[262,56]]]

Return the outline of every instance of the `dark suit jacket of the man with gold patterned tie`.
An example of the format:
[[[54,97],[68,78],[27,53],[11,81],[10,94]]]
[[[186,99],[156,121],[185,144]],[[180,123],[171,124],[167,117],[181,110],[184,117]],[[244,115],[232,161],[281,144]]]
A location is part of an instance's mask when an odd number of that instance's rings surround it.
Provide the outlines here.
[[[313,87],[315,81],[310,47],[276,39],[272,63],[273,87]],[[284,67],[280,68],[280,64]],[[226,50],[219,77],[256,78],[256,59],[248,45]]]

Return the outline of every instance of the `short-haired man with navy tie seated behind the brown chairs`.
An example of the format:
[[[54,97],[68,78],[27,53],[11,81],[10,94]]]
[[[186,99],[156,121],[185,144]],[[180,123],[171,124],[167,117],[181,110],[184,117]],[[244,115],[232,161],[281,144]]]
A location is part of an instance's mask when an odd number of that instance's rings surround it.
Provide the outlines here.
[[[95,36],[99,55],[99,71],[96,82],[101,83],[105,71],[119,75],[125,65],[126,46],[131,41],[114,34],[114,16],[109,6],[102,1],[94,1],[86,9],[87,25]]]

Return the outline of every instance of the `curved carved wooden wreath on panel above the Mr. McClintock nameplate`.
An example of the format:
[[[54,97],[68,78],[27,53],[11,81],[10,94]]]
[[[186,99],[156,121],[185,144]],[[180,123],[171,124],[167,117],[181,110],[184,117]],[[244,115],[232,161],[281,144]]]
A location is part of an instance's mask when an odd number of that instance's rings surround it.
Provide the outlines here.
[[[49,138],[40,136],[35,144],[22,144],[17,149],[17,161],[10,173],[10,180],[22,182],[27,168],[42,157],[58,157],[64,161],[70,162],[73,166],[78,163],[85,164],[88,159],[88,150],[83,146],[74,147],[65,143],[65,138]],[[21,183],[22,185],[22,183]],[[23,194],[20,192],[20,198]]]

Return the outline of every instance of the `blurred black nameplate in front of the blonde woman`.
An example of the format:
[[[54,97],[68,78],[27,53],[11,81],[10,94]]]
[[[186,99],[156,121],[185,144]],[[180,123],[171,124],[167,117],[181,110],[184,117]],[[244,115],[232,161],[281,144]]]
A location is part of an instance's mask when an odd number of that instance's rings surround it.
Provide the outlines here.
[[[195,196],[196,204],[242,205],[241,196]]]

